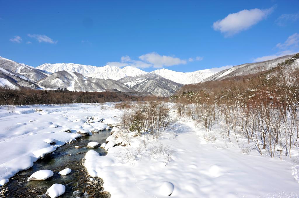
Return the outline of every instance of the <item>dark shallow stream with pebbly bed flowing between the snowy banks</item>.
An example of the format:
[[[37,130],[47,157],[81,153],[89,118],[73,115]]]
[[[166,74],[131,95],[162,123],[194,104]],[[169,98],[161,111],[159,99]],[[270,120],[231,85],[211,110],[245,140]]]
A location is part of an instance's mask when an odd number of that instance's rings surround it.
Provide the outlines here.
[[[105,143],[109,135],[110,130],[100,131],[57,148],[48,158],[37,160],[30,169],[21,171],[10,178],[9,183],[0,188],[0,191],[8,188],[7,193],[0,197],[47,197],[45,193],[54,183],[65,185],[65,193],[60,197],[109,197],[109,193],[103,192],[103,180],[100,178],[94,178],[92,182],[89,180],[82,160],[85,153],[92,149],[86,148],[90,141],[96,141],[100,145]],[[81,148],[75,148],[75,146]],[[100,155],[106,155],[106,151],[100,147],[93,150]],[[72,172],[59,175],[58,172],[65,168],[70,168]],[[54,176],[44,181],[27,181],[31,174],[42,169],[52,170]]]

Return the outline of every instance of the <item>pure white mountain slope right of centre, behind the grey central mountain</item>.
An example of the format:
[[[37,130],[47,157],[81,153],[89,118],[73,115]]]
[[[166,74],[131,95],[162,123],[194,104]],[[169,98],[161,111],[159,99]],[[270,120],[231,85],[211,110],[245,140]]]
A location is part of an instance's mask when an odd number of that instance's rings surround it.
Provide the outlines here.
[[[173,82],[181,83],[184,85],[194,84],[198,82],[202,82],[203,79],[206,79],[217,72],[212,71],[210,69],[198,70],[193,72],[178,72],[172,71],[169,69],[157,69],[150,73],[158,74],[163,78],[172,80]]]

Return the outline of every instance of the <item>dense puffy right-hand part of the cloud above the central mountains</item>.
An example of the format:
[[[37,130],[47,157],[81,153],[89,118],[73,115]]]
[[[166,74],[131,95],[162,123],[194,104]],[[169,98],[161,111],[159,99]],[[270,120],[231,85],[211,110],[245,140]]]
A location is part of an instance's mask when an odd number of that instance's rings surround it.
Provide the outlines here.
[[[186,60],[181,60],[172,56],[161,56],[156,52],[141,55],[139,56],[139,59],[152,64],[154,68],[163,68],[164,66],[173,66],[187,63]]]

